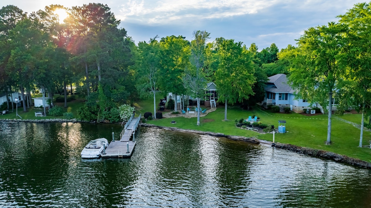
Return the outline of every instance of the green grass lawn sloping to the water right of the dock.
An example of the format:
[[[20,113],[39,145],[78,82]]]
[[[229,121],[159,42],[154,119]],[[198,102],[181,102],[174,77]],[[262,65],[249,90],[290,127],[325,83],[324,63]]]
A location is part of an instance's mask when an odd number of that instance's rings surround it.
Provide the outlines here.
[[[141,109],[145,109],[142,107],[142,105],[148,105],[150,103],[152,105],[150,108],[153,108],[153,100],[152,102],[138,102],[137,106],[141,107]],[[233,106],[229,107],[227,111],[227,118],[229,121],[223,121],[224,108],[223,106],[219,106],[216,111],[209,113],[205,117],[201,117],[201,124],[199,126],[196,125],[196,117],[185,118],[181,116],[175,118],[151,120],[147,121],[147,123],[167,127],[178,127],[183,129],[240,135],[244,137],[257,137],[261,140],[273,141],[272,134],[259,134],[254,131],[235,127],[235,119],[246,119],[247,117],[253,115],[260,117],[260,121],[263,124],[275,125],[276,128],[278,127],[278,120],[286,120],[287,132],[285,134],[276,134],[276,142],[327,150],[336,152],[338,154],[347,155],[348,157],[359,158],[361,160],[371,162],[371,149],[367,147],[358,147],[360,130],[353,127],[351,124],[345,123],[344,121],[337,120],[336,118],[332,119],[332,143],[331,145],[325,144],[327,138],[328,115],[306,116],[293,112],[289,114],[272,113],[268,110],[261,110],[260,107],[255,107],[253,110],[248,111]],[[354,122],[358,119],[360,121],[360,116],[360,114],[346,114],[342,118]],[[173,120],[177,123],[171,124],[170,122]],[[369,145],[370,143],[368,141],[370,140],[371,132],[364,131],[363,145]]]

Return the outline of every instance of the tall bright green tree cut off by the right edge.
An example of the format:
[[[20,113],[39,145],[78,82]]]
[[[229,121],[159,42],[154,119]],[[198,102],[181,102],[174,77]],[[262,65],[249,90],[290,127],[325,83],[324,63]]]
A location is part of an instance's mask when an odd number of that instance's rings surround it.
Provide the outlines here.
[[[370,110],[371,100],[371,5],[370,3],[355,4],[344,15],[339,15],[339,22],[345,24],[348,31],[349,75],[347,92],[353,106],[362,111],[361,133],[359,147],[362,147],[364,117],[367,110]]]

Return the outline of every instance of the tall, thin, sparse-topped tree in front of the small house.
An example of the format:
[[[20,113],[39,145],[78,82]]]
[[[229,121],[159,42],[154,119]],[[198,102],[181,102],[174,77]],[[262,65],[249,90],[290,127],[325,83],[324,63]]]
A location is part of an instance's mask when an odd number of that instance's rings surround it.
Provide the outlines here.
[[[184,88],[187,94],[197,99],[197,125],[200,125],[200,98],[205,95],[206,76],[203,72],[205,61],[206,41],[210,33],[206,31],[194,31],[193,40],[191,41],[190,67],[185,71],[183,77]]]

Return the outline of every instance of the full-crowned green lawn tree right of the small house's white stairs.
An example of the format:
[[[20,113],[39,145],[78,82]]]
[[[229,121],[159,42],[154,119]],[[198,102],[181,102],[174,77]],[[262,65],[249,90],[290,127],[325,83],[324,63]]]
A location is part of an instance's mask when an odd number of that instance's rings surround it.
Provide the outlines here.
[[[242,43],[217,38],[219,66],[215,72],[215,84],[221,100],[225,100],[224,120],[227,121],[227,104],[242,102],[253,95],[254,67],[252,57]]]

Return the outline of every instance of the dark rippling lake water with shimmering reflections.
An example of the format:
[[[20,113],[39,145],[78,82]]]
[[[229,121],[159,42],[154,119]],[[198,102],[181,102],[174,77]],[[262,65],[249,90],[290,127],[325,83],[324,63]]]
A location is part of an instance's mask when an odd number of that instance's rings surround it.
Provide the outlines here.
[[[0,207],[370,207],[370,170],[141,128],[131,159],[82,160],[120,125],[0,122]]]

